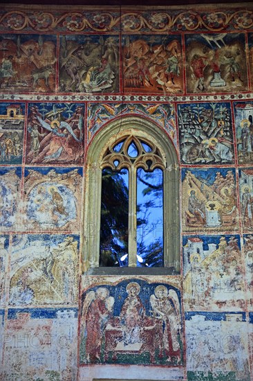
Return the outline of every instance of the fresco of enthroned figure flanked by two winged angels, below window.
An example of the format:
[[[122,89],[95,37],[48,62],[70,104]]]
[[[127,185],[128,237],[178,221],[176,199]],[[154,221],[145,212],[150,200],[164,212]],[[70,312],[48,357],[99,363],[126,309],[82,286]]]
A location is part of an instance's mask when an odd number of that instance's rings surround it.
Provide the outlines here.
[[[82,296],[80,364],[182,364],[180,292],[131,279]]]

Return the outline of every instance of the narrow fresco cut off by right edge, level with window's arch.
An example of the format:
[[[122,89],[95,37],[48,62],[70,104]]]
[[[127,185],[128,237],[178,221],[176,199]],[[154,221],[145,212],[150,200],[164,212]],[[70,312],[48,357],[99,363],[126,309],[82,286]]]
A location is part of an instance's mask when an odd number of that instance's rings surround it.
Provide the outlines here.
[[[239,164],[253,163],[253,102],[234,102]]]

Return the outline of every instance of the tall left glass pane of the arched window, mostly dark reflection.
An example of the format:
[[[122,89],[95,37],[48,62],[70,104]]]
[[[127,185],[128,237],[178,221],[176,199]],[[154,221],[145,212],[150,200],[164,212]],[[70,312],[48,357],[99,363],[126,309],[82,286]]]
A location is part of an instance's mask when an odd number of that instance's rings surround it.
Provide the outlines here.
[[[128,265],[129,174],[102,170],[100,266]]]

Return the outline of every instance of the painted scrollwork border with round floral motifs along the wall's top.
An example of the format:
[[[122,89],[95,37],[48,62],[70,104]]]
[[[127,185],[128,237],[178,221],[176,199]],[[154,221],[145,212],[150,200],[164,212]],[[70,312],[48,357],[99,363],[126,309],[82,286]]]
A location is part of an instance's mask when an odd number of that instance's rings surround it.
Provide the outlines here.
[[[207,30],[248,30],[253,28],[253,10],[225,9],[206,12],[193,10],[142,10],[127,12],[120,8],[101,12],[94,9],[81,11],[41,12],[39,10],[9,10],[0,12],[0,31],[18,32],[20,30],[37,32],[119,32],[123,33],[167,33],[174,31]],[[217,9],[217,8],[216,8]]]

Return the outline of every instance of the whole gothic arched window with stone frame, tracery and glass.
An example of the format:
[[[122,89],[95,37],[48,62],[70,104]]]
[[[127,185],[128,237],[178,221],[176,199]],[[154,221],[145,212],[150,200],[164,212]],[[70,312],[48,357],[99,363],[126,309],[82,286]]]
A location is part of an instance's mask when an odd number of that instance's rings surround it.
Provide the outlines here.
[[[84,271],[178,273],[178,193],[178,157],[164,130],[135,116],[106,125],[88,148]]]

